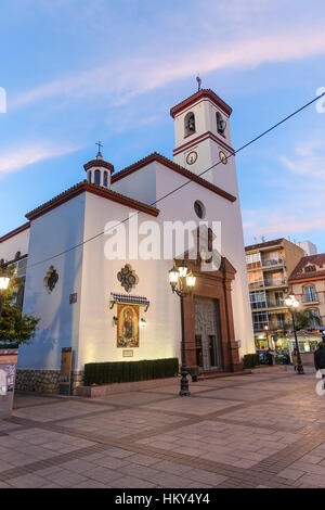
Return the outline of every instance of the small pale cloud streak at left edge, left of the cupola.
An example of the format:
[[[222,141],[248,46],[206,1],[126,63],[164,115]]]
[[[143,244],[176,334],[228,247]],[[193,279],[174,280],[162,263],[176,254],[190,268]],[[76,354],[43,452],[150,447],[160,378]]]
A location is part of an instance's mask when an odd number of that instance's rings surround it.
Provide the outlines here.
[[[18,146],[8,152],[1,152],[0,157],[0,177],[4,174],[18,170],[27,165],[32,165],[43,160],[62,156],[75,152],[78,148],[73,146],[52,146],[48,143],[31,143],[29,145]]]

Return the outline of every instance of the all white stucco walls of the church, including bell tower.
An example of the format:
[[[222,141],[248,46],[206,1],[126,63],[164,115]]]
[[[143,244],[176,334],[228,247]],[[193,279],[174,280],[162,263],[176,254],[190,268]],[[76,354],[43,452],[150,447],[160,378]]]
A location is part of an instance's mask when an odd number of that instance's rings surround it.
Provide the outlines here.
[[[206,131],[217,135],[217,109],[210,102],[204,101],[188,111],[194,111],[196,115],[196,136]],[[183,117],[186,113],[187,111],[176,119],[177,146],[184,143]],[[223,116],[225,117],[224,114]],[[225,141],[231,144],[229,123],[225,136]],[[187,140],[188,138],[185,141]],[[219,161],[220,148],[211,140],[198,144],[197,165],[187,166],[188,169],[199,174]],[[184,157],[185,154],[182,153],[176,157],[176,161],[185,166]],[[226,165],[219,165],[205,177],[238,196],[234,158],[229,160]],[[154,162],[117,181],[112,189],[152,204],[187,180],[172,169]],[[192,181],[157,204],[160,211],[157,218],[139,213],[139,225],[147,220],[160,226],[164,221],[197,221],[194,212],[196,200],[205,205],[204,220],[209,221],[210,226],[212,221],[221,221],[221,253],[237,271],[232,284],[235,339],[242,342],[242,355],[252,353],[255,344],[239,201],[231,203]],[[69,346],[74,350],[74,370],[82,370],[84,364],[92,361],[180,356],[180,299],[171,293],[168,282],[168,271],[172,260],[130,259],[128,243],[126,257],[109,260],[104,254],[107,235],[99,235],[88,242],[104,231],[107,221],[123,220],[128,218],[130,212],[136,213],[128,205],[87,192],[31,222],[24,311],[40,317],[41,321],[36,339],[30,345],[20,349],[18,368],[60,369],[61,349]],[[128,233],[129,222],[126,221],[123,225]],[[6,251],[3,253],[13,253],[13,256],[17,251],[24,253],[20,246],[23,246],[24,239],[27,241],[28,234],[28,231],[22,232],[21,240],[17,237],[11,245],[5,244]],[[83,241],[86,243],[76,250],[37,264]],[[1,257],[5,258],[1,255],[0,244]],[[142,295],[151,302],[146,314],[142,307],[140,308],[140,317],[145,318],[146,327],[140,330],[140,347],[132,349],[132,358],[123,358],[123,349],[117,348],[117,327],[113,321],[113,317],[117,315],[116,305],[109,309],[110,292],[126,293],[117,280],[117,272],[125,264],[130,264],[139,277],[139,283],[131,291],[131,295]],[[49,294],[43,278],[51,265],[58,273],[58,281]],[[69,304],[72,293],[78,294],[78,301],[74,305]]]

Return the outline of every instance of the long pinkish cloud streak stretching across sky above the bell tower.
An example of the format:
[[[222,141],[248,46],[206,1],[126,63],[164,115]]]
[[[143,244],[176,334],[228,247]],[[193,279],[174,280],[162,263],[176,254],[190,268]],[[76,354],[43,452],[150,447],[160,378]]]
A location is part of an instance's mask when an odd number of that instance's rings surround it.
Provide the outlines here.
[[[107,95],[110,105],[128,102],[134,95],[190,77],[197,72],[209,73],[222,68],[250,68],[262,63],[286,62],[325,54],[323,27],[296,27],[284,34],[243,36],[239,40],[220,40],[196,44],[191,49],[166,50],[157,55],[148,49],[135,58],[109,61],[100,67],[66,75],[27,90],[13,98],[10,107],[24,106],[36,101],[68,98],[70,101]],[[154,54],[150,54],[150,52]]]

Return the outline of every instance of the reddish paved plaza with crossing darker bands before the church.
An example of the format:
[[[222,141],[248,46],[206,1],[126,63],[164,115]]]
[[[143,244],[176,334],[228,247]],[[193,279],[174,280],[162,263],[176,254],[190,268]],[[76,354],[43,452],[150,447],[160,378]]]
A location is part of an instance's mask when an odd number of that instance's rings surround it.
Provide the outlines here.
[[[0,421],[4,487],[325,487],[314,370],[179,381],[103,398],[20,395]]]

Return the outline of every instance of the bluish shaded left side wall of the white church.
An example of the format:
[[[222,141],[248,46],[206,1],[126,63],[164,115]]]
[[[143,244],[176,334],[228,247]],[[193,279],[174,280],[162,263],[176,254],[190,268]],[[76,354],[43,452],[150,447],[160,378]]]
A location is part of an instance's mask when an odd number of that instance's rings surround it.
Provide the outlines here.
[[[82,242],[83,211],[84,193],[31,222],[23,311],[41,320],[36,337],[20,348],[18,368],[58,370],[62,347],[78,347],[82,247],[35,264]],[[51,293],[43,284],[50,266],[58,273]],[[70,305],[75,292],[78,302]]]

